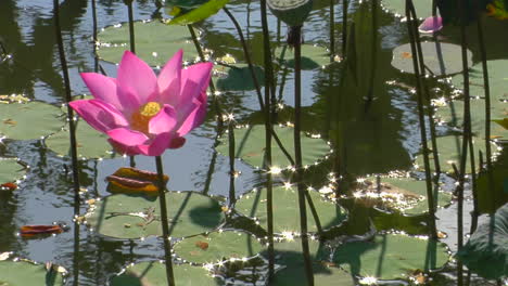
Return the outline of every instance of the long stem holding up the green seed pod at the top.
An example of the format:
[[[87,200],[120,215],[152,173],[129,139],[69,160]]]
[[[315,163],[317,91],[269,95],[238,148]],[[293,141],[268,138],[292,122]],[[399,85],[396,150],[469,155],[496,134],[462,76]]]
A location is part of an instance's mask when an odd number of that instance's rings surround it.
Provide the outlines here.
[[[304,255],[305,274],[307,285],[314,286],[314,273],[308,249],[307,211],[305,206],[305,186],[303,183],[301,115],[302,115],[302,26],[291,27],[294,30],[296,42],[294,44],[294,157],[296,160],[296,185],[299,191],[300,226],[302,234],[302,250]]]

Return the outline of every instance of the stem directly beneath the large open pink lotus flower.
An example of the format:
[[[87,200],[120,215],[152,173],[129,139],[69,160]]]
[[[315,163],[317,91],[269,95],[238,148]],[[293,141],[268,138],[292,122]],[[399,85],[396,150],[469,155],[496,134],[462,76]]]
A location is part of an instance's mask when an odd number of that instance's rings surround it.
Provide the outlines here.
[[[166,277],[167,285],[175,285],[175,276],[173,274],[173,261],[172,261],[172,243],[169,237],[169,223],[167,220],[167,207],[166,207],[166,184],[164,183],[164,169],[161,156],[155,156],[155,165],[157,168],[158,179],[158,203],[161,206],[161,223],[163,226],[163,242],[164,242],[164,258],[166,265]]]

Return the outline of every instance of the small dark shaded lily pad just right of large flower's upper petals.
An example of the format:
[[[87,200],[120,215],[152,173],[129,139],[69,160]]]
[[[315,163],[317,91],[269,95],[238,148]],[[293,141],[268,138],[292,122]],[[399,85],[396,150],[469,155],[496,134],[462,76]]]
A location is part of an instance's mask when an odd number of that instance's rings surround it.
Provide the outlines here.
[[[254,73],[257,82],[263,87],[265,84],[265,72],[259,66],[254,66]],[[237,91],[256,88],[251,69],[246,64],[233,64],[231,67],[216,65],[212,79],[218,90]]]

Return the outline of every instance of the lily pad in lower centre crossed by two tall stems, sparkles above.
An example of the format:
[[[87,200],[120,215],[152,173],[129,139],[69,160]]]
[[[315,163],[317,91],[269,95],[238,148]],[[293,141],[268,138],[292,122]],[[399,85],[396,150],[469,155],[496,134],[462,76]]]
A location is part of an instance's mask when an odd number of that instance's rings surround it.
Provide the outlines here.
[[[322,229],[340,225],[347,217],[341,206],[325,202],[317,192],[309,191]],[[251,218],[256,218],[261,225],[267,223],[266,188],[243,195],[234,208]],[[307,203],[307,229],[317,232],[316,222]],[[293,187],[274,187],[274,232],[300,232],[300,208],[297,191]]]

